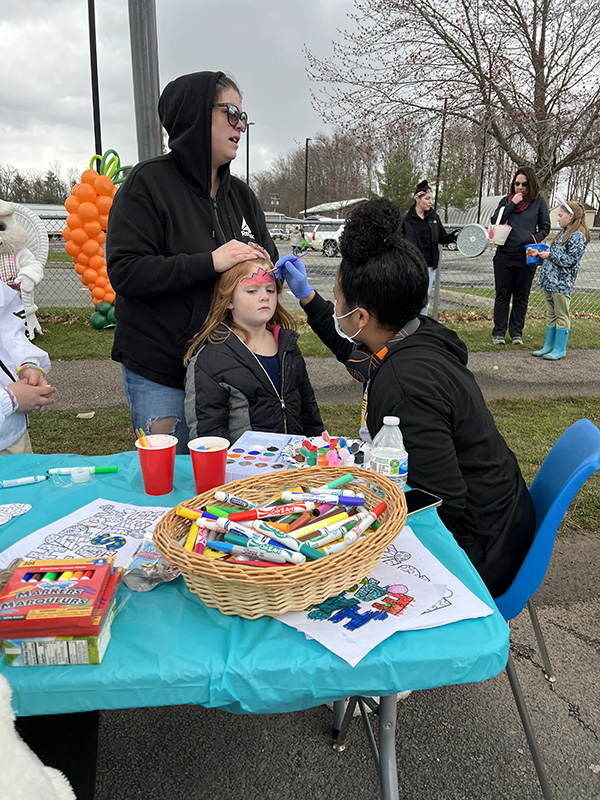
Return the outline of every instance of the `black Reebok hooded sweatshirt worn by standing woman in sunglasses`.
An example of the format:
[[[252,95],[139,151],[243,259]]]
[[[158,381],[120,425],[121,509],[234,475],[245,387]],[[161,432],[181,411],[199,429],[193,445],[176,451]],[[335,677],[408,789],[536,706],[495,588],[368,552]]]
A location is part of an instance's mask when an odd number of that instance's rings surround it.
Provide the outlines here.
[[[166,86],[158,111],[171,151],[129,173],[109,215],[113,360],[178,389],[184,353],[210,306],[212,251],[238,239],[262,245],[273,261],[278,255],[257,198],[229,164],[219,169],[216,198],[210,196],[212,106],[222,74],[196,72]]]

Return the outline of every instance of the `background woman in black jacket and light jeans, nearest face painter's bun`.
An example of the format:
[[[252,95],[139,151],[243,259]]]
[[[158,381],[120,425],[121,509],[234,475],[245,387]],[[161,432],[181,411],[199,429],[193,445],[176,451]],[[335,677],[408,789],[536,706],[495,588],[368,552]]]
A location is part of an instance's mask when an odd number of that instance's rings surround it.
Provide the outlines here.
[[[415,202],[406,212],[402,220],[402,233],[416,245],[427,264],[429,272],[429,286],[427,288],[427,302],[431,294],[435,271],[440,265],[440,244],[450,244],[456,241],[458,231],[446,233],[438,214],[432,210],[433,189],[426,180],[421,181],[415,189]],[[427,314],[427,304],[421,309],[421,314]]]

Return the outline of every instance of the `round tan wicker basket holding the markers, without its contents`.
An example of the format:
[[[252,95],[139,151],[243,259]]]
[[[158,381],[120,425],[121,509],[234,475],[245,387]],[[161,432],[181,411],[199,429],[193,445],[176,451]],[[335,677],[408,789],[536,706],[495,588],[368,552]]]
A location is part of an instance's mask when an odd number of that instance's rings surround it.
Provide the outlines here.
[[[360,467],[309,467],[301,473],[286,470],[260,479],[233,481],[225,487],[230,494],[262,503],[300,480],[305,487],[322,486],[348,472],[354,475],[352,488],[364,494],[367,508],[374,508],[383,499],[387,510],[379,518],[382,524],[377,531],[336,555],[290,567],[224,564],[179,544],[189,520],[178,516],[174,509],[156,526],[154,543],[160,554],[181,570],[190,591],[223,614],[256,619],[301,611],[344,591],[373,569],[406,522],[403,492],[388,478]],[[215,491],[198,495],[188,504],[196,508],[212,505]]]

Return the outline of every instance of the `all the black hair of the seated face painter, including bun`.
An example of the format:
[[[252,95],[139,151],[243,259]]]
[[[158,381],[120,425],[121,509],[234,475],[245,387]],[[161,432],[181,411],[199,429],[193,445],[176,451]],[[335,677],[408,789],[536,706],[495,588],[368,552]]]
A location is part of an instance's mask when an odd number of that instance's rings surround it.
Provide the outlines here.
[[[427,301],[429,275],[420,250],[402,235],[400,221],[398,206],[385,197],[350,213],[340,236],[344,307],[338,307],[338,314],[366,308],[393,331],[419,314]]]

